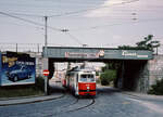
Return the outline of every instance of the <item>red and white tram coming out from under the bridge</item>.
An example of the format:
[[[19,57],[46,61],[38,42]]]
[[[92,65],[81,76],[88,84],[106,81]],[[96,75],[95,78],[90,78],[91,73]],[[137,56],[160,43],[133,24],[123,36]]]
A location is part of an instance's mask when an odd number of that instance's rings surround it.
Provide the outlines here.
[[[70,89],[76,96],[96,95],[96,72],[86,67],[74,67],[67,70],[63,86]]]

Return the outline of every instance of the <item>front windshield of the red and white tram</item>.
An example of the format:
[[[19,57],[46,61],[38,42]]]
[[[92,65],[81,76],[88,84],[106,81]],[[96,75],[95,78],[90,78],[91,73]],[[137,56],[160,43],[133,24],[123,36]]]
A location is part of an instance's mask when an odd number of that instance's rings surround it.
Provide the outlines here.
[[[84,81],[84,82],[95,81],[95,77],[93,75],[90,75],[90,74],[80,75],[80,81]]]

